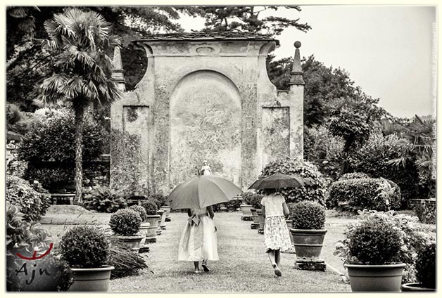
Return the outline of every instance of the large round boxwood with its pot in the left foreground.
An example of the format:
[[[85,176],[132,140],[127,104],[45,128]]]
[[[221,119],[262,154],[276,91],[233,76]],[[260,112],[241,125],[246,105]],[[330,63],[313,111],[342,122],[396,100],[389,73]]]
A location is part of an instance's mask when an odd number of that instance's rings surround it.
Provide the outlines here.
[[[106,292],[113,266],[108,259],[109,242],[102,231],[89,226],[71,228],[58,245],[73,273],[70,291]]]

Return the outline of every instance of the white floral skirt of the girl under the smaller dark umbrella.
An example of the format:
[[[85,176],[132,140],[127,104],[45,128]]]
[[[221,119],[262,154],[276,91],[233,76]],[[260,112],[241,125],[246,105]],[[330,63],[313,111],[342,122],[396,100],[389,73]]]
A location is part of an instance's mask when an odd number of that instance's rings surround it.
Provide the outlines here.
[[[269,216],[265,218],[264,243],[266,252],[269,250],[289,250],[291,240],[284,216]]]

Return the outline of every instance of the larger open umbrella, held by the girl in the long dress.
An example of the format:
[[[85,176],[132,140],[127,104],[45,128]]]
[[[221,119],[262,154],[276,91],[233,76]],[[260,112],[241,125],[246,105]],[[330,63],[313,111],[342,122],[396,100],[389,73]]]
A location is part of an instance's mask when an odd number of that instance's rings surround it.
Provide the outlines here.
[[[196,176],[174,188],[168,201],[171,209],[201,209],[229,202],[240,193],[241,188],[220,176]]]

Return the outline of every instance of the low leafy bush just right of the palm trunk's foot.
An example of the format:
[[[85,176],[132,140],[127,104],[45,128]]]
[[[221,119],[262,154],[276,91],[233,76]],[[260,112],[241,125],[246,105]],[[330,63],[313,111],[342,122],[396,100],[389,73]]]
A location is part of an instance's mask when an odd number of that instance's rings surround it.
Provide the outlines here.
[[[111,191],[108,187],[95,188],[84,195],[83,207],[96,212],[113,213],[127,207],[123,195]]]

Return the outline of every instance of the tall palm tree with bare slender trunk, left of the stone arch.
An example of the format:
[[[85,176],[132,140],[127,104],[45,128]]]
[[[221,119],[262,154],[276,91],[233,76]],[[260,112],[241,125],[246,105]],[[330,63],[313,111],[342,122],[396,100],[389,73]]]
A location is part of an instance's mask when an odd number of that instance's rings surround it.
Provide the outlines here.
[[[68,101],[75,114],[75,201],[82,202],[82,136],[85,110],[91,103],[109,105],[121,93],[112,79],[108,56],[120,39],[99,13],[72,8],[44,22],[53,54],[53,73],[39,86],[44,102]]]

